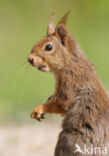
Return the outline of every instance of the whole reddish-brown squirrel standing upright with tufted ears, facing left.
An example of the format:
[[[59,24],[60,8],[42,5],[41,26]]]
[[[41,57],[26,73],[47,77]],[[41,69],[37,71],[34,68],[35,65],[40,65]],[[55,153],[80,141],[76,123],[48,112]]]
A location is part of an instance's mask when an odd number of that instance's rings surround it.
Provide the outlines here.
[[[34,109],[31,117],[40,120],[45,113],[64,116],[55,156],[106,155],[85,153],[88,148],[108,147],[109,96],[99,80],[94,65],[86,58],[66,27],[67,12],[54,28],[53,16],[47,35],[34,45],[29,63],[55,75],[56,87],[45,104]],[[77,147],[81,149],[78,150]],[[109,151],[107,149],[108,156]]]

